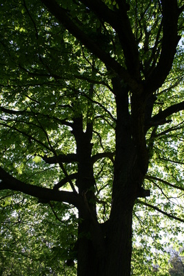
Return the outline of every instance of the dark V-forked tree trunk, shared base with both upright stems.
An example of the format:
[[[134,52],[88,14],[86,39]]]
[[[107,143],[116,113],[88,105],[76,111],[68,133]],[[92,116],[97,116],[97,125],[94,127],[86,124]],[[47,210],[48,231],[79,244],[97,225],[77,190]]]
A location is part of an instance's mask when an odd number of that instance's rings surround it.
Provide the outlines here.
[[[94,185],[94,179],[91,179],[92,168],[88,166],[90,155],[86,155],[88,143],[83,141],[81,152],[84,146],[86,149],[85,154],[81,155],[83,159],[79,162],[79,175],[80,171],[82,172],[79,182],[84,207],[79,211],[78,276],[130,276],[131,273],[132,210],[136,197],[141,193],[145,174],[145,159],[143,164],[140,164],[139,145],[145,144],[141,141],[142,133],[132,129],[134,122],[130,118],[128,89],[122,86],[119,78],[112,80],[112,83],[116,91],[114,94],[117,111],[112,209],[107,227],[102,232],[96,219],[96,206],[90,204],[93,198],[92,190],[86,190],[86,186],[90,188]],[[143,121],[141,115],[140,118]],[[136,118],[136,121],[142,124],[139,118]],[[136,135],[139,136],[138,142]],[[86,177],[90,177],[88,182]]]

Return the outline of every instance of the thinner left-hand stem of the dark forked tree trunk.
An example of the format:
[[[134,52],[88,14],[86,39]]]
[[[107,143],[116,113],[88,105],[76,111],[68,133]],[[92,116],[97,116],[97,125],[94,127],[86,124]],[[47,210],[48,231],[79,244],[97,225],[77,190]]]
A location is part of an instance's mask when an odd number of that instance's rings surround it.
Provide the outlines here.
[[[96,217],[96,201],[94,197],[94,173],[92,166],[92,125],[87,124],[83,132],[82,117],[74,120],[73,128],[76,139],[76,155],[78,156],[78,177],[76,184],[81,197],[79,208],[79,227],[77,241],[77,275],[103,275],[102,259],[105,246],[101,227]]]

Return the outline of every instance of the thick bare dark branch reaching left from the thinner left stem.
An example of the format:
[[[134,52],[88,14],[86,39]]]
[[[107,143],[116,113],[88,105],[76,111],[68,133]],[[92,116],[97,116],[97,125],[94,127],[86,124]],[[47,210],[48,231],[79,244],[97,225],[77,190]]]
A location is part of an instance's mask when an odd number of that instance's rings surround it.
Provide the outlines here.
[[[74,205],[79,208],[80,201],[76,193],[68,191],[52,190],[49,188],[34,186],[30,184],[25,184],[23,181],[12,177],[8,172],[0,167],[0,190],[18,190],[19,192],[25,193],[26,195],[32,195],[32,197],[37,197],[39,199],[44,199],[45,201],[62,201],[68,204]]]

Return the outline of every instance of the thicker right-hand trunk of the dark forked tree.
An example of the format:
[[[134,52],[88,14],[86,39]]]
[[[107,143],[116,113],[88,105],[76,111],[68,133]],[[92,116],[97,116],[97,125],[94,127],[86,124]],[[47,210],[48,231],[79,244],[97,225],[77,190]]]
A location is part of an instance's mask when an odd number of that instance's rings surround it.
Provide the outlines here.
[[[141,194],[145,164],[140,164],[139,144],[143,134],[134,135],[134,117],[129,112],[128,90],[116,78],[112,80],[116,92],[116,159],[112,187],[112,210],[107,235],[105,276],[130,276],[132,256],[132,211],[136,197]],[[139,105],[139,102],[137,103]],[[139,108],[139,106],[138,106]],[[140,113],[141,114],[141,113]],[[137,114],[139,116],[139,114]],[[143,117],[137,118],[143,124]],[[141,128],[141,131],[143,128]],[[143,137],[144,139],[144,137]],[[143,145],[144,140],[143,140]],[[146,148],[144,148],[146,151]]]

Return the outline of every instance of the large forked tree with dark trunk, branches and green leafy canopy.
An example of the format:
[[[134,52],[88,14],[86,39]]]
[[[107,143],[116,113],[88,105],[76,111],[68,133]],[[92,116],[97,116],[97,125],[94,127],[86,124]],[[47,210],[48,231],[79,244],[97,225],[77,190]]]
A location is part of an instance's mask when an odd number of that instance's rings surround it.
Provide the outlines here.
[[[133,214],[184,221],[183,9],[1,3],[2,197],[77,210],[79,276],[130,275]]]

